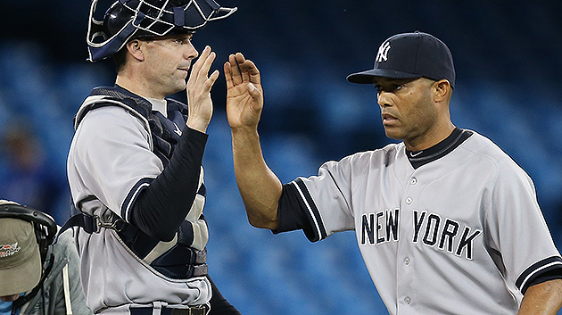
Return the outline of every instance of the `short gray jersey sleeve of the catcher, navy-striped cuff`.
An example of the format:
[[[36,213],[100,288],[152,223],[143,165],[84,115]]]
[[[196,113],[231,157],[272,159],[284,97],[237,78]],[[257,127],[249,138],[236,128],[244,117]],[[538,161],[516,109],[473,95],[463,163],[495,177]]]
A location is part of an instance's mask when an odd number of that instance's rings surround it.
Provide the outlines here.
[[[134,196],[163,170],[149,137],[143,122],[119,106],[88,112],[76,130],[69,153],[69,177],[73,177],[69,179],[70,188],[87,187],[87,192],[72,195],[95,195],[128,220]]]

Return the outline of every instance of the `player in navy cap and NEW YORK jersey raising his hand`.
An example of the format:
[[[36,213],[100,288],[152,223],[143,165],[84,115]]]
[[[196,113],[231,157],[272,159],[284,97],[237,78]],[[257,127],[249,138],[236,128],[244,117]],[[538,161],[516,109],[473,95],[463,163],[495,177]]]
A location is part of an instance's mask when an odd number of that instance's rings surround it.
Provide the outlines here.
[[[348,76],[376,87],[387,137],[401,143],[326,162],[282,185],[257,131],[260,72],[230,55],[227,115],[236,180],[250,223],[302,229],[312,242],[355,230],[391,314],[556,314],[562,258],[533,181],[500,147],[455,127],[455,70],[438,38],[384,41],[374,69]]]

